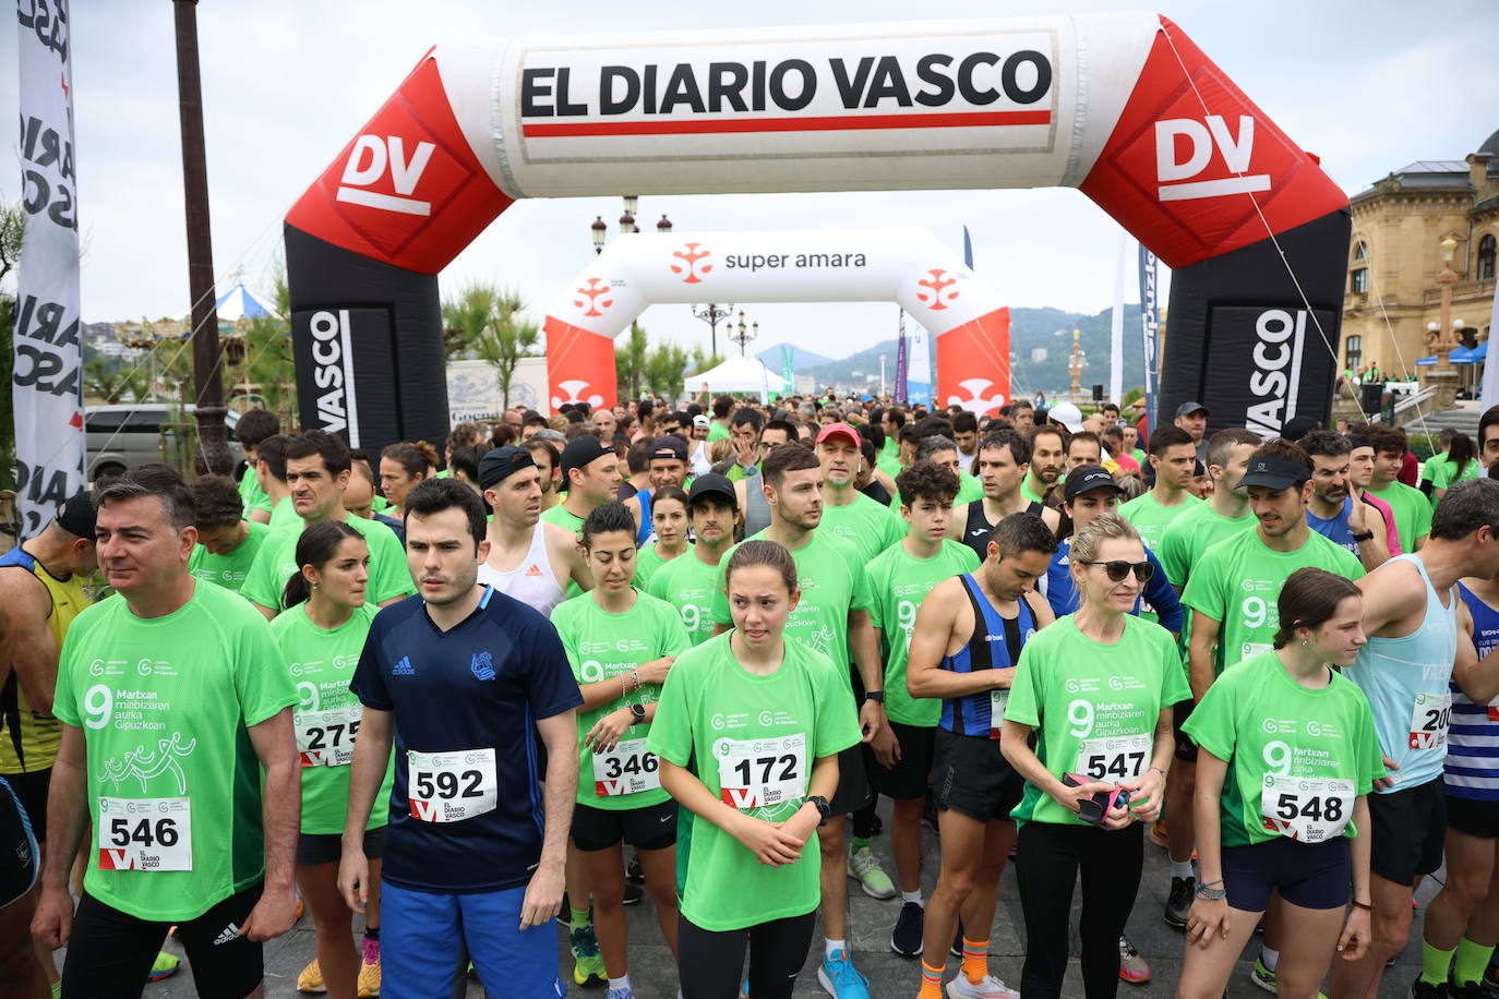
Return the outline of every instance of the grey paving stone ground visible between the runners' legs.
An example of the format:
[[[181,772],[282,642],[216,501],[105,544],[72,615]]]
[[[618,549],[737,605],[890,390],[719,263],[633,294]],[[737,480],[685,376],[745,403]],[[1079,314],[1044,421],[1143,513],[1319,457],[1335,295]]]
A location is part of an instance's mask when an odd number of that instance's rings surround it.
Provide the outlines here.
[[[889,801],[881,800],[880,813],[884,818],[887,828],[890,819]],[[886,872],[893,878],[895,864],[890,858],[890,837],[887,831],[874,839],[874,851],[884,864]],[[928,896],[937,882],[937,837],[926,830],[923,840],[922,890]],[[1421,903],[1423,909],[1438,893],[1441,881],[1445,879],[1445,876],[1447,873],[1444,869],[1438,872],[1435,878],[1427,878],[1421,885],[1421,890],[1417,893],[1417,900]],[[913,999],[917,987],[920,986],[920,962],[917,959],[899,957],[890,951],[890,929],[895,926],[895,917],[899,911],[898,897],[889,902],[878,902],[859,891],[859,887],[854,882],[850,881],[848,887],[851,893],[848,897],[848,912],[854,966],[869,978],[871,996],[874,996],[874,999]],[[1130,986],[1121,983],[1120,999],[1169,999],[1175,995],[1177,978],[1181,971],[1183,938],[1178,930],[1166,926],[1166,923],[1160,918],[1168,888],[1169,875],[1166,867],[1166,854],[1165,851],[1147,843],[1145,875],[1141,882],[1139,900],[1130,915],[1127,933],[1135,947],[1139,948],[1139,953],[1150,962],[1154,977],[1145,986]],[[1073,953],[1076,953],[1078,896],[1081,896],[1081,893],[1075,893],[1073,897]],[[628,912],[631,935],[630,978],[634,986],[636,996],[639,999],[673,999],[676,996],[676,966],[672,960],[672,953],[663,942],[661,933],[657,927],[651,897],[646,896],[639,905],[630,906]],[[814,938],[814,948],[820,954],[821,926],[818,926],[817,933],[818,935]],[[561,974],[562,980],[570,986],[570,999],[603,999],[603,989],[579,989],[571,984],[573,966],[571,960],[568,960],[565,929],[559,930],[559,935],[564,956]],[[168,947],[177,948],[175,942],[168,942]],[[180,954],[181,951],[175,950],[175,953]],[[1240,968],[1229,984],[1229,999],[1255,999],[1265,995],[1249,983],[1249,969],[1253,966],[1256,953],[1258,938],[1255,938],[1255,942],[1252,942],[1246,950],[1247,960],[1240,962]],[[289,999],[291,996],[300,995],[297,992],[297,974],[309,960],[312,960],[312,954],[313,930],[312,921],[307,917],[303,917],[291,933],[267,944],[267,998]],[[1021,963],[1024,960],[1024,920],[1021,914],[1021,902],[1015,888],[1013,872],[1006,870],[1004,879],[1000,884],[998,911],[995,912],[994,927],[989,935],[989,969],[992,974],[997,974],[1000,978],[1015,986],[1021,978]],[[1379,989],[1381,999],[1399,999],[1408,995],[1411,980],[1418,974],[1420,965],[1421,912],[1417,914],[1409,945],[1397,959],[1396,966],[1385,972],[1384,983]],[[950,959],[947,965],[949,977],[956,972],[956,968],[958,959]],[[192,975],[187,972],[186,962],[183,971],[175,977],[163,983],[148,986],[145,990],[147,999],[187,999],[189,996],[196,995],[198,993],[193,989]],[[817,962],[812,954],[809,954],[796,984],[796,996],[824,995],[826,993],[817,984]],[[1067,969],[1067,980],[1063,986],[1063,996],[1066,999],[1082,999],[1082,975],[1078,969],[1076,957],[1073,957]],[[484,996],[484,989],[475,980],[469,980],[468,996]]]

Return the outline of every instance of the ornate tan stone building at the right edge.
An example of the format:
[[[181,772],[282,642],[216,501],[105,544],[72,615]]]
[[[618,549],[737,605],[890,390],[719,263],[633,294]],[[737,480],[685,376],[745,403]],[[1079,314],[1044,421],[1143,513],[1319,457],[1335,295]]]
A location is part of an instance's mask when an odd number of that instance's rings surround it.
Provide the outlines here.
[[[1460,346],[1460,385],[1487,353],[1499,253],[1499,132],[1460,160],[1420,160],[1354,195],[1343,303],[1342,368],[1370,364],[1391,380],[1433,373],[1438,347]],[[1450,253],[1451,327],[1439,338],[1444,252]],[[1399,352],[1397,352],[1399,346]],[[1417,365],[1426,359],[1424,365]],[[1402,364],[1403,361],[1403,364]],[[1424,379],[1423,379],[1424,380]]]

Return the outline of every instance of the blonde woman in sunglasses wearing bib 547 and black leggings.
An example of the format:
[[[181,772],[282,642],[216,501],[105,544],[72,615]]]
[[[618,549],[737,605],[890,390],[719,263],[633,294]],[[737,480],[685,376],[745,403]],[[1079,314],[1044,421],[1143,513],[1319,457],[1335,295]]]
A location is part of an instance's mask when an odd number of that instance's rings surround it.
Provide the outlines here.
[[[1082,473],[1075,469],[1069,484]],[[1013,812],[1025,999],[1061,995],[1079,872],[1084,992],[1111,999],[1118,990],[1118,941],[1144,866],[1141,828],[1160,815],[1175,750],[1171,705],[1190,696],[1175,641],[1132,614],[1156,568],[1135,529],[1099,514],[1070,550],[1081,605],[1025,643],[1000,737],[1025,779]]]

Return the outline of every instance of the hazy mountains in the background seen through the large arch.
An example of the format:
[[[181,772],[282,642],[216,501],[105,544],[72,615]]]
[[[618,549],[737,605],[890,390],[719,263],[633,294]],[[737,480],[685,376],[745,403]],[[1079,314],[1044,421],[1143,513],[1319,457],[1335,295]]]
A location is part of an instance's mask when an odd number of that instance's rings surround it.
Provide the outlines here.
[[[1108,392],[1109,385],[1109,327],[1112,322],[1109,309],[1097,315],[1064,312],[1061,309],[1010,309],[1010,362],[1012,395],[1027,398],[1037,389],[1046,395],[1064,392],[1072,386],[1072,374],[1067,364],[1072,359],[1072,331],[1079,331],[1079,343],[1084,352],[1081,382],[1084,392],[1093,385],[1103,385]],[[1060,335],[1058,335],[1060,334]],[[932,344],[932,380],[937,377],[935,337]],[[779,368],[779,347],[773,347],[773,358],[760,356],[772,370]],[[761,350],[761,355],[770,355]],[[884,376],[887,383],[895,382],[896,341],[886,340],[868,350],[860,350],[839,361],[811,364],[806,358],[817,356],[809,350],[797,347],[796,373],[809,374],[821,386],[823,382],[863,383],[872,374],[880,376],[880,355],[884,355]],[[758,355],[757,355],[758,356]],[[1124,389],[1129,391],[1145,380],[1145,347],[1139,333],[1139,306],[1129,303],[1124,306]]]

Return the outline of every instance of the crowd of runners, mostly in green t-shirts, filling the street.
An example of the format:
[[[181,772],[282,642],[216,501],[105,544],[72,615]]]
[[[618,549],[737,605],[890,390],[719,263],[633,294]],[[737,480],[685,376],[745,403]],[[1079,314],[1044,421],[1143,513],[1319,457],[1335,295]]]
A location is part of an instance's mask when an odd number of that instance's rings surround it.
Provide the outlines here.
[[[1054,999],[1076,951],[1108,999],[1148,839],[1178,996],[1261,933],[1262,989],[1373,999],[1444,857],[1412,999],[1490,995],[1499,407],[1426,482],[1199,403],[565,410],[378,455],[250,412],[238,482],[138,466],[0,559],[0,992],[139,996],[171,933],[261,996],[306,908],[307,993],[631,999],[649,896],[657,995]]]

